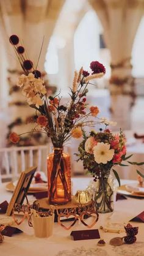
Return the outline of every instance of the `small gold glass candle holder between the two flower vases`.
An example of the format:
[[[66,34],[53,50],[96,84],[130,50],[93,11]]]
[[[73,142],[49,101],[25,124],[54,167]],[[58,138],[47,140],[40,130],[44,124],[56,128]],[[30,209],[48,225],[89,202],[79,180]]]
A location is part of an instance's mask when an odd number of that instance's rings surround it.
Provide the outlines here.
[[[77,203],[85,205],[86,203],[89,203],[92,199],[90,193],[87,190],[78,190],[75,195],[75,200]]]

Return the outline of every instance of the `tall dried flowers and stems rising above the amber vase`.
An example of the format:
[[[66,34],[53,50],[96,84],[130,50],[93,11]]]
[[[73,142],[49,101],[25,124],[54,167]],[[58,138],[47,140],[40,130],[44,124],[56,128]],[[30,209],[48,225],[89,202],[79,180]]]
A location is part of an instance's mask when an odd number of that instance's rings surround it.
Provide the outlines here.
[[[16,55],[23,68],[24,74],[18,79],[18,86],[21,87],[27,103],[36,111],[37,119],[34,120],[35,128],[30,133],[41,132],[51,137],[54,147],[63,147],[71,137],[79,138],[82,136],[84,126],[92,126],[94,123],[104,123],[103,119],[88,120],[88,117],[96,117],[99,112],[97,106],[88,109],[86,102],[87,86],[90,80],[101,78],[106,72],[103,64],[93,61],[90,64],[92,74],[81,68],[79,73],[75,71],[73,87],[70,89],[70,101],[61,104],[60,95],[46,97],[46,89],[41,78],[41,73],[34,68],[31,60],[27,59],[23,46],[18,46],[19,38],[17,35],[10,36]],[[88,113],[85,111],[88,109]],[[38,112],[40,115],[38,115]],[[20,135],[11,133],[10,141],[16,143],[20,140]]]

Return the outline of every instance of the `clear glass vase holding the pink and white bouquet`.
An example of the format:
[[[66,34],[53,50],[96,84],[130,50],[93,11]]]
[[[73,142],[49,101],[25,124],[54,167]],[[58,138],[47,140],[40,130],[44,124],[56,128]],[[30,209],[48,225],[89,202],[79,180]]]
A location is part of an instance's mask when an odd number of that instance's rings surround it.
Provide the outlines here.
[[[88,186],[93,200],[96,202],[96,208],[99,213],[109,213],[113,211],[113,177],[104,175],[98,177]]]

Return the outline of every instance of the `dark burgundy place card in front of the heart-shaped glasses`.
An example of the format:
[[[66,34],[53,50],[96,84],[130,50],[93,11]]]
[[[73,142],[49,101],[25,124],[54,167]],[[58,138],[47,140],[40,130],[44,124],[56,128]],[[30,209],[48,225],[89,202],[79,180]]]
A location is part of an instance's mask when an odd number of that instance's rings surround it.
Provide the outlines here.
[[[72,231],[71,236],[73,236],[74,241],[100,238],[98,229]]]

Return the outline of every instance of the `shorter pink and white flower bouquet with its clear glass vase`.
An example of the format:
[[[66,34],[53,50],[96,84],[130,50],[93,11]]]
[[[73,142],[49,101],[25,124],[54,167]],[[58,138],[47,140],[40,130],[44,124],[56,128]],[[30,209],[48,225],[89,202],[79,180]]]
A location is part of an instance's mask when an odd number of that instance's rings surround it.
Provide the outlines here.
[[[105,130],[100,128],[98,132],[91,131],[89,136],[83,134],[84,140],[79,144],[79,153],[76,155],[83,161],[84,169],[93,175],[93,180],[96,181],[93,185],[96,206],[99,212],[106,213],[113,211],[111,169],[120,185],[120,178],[113,166],[129,166],[130,164],[141,166],[144,163],[127,161],[132,155],[126,156],[126,138],[123,131],[120,130],[120,133],[113,134],[107,129],[107,120],[104,120],[104,123],[106,124]],[[126,164],[123,164],[123,161],[126,161]],[[144,177],[139,170],[137,173]]]

